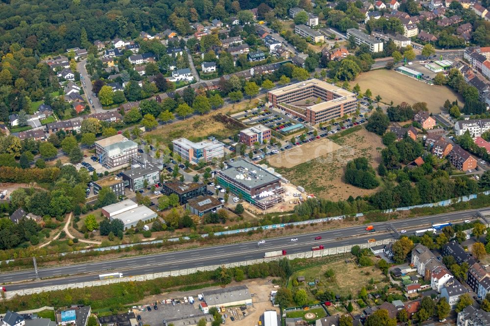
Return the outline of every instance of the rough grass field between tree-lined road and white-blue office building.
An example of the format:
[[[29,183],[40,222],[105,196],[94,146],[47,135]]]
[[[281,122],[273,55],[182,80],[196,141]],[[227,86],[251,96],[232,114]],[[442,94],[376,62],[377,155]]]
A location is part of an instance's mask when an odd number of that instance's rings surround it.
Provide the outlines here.
[[[224,111],[221,110],[224,113]],[[147,133],[149,137],[160,142],[169,143],[174,139],[185,137],[191,141],[200,141],[209,136],[214,136],[218,139],[227,138],[235,134],[239,128],[231,128],[230,125],[215,120],[213,117],[222,114],[215,112],[204,116],[195,116],[185,121],[172,123]]]

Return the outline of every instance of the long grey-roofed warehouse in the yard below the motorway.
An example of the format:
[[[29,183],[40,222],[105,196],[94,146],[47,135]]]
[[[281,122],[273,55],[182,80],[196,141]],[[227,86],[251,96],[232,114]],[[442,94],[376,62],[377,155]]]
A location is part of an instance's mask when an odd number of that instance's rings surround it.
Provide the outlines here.
[[[230,307],[234,305],[252,305],[252,296],[245,285],[224,289],[202,291],[202,297],[208,307]]]

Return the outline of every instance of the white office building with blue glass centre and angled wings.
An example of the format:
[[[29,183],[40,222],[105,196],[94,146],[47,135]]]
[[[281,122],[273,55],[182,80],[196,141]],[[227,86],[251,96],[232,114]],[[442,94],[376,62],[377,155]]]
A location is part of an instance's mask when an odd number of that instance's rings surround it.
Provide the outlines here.
[[[172,140],[173,152],[190,163],[210,162],[224,156],[224,144],[217,140],[192,142],[185,138]]]

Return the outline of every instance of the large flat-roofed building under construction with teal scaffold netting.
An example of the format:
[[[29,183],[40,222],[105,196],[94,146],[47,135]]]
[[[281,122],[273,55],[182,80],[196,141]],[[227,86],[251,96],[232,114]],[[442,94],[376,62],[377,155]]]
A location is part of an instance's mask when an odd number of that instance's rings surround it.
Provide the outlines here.
[[[284,200],[279,195],[284,192],[279,177],[245,160],[229,162],[217,178],[221,186],[263,210]]]

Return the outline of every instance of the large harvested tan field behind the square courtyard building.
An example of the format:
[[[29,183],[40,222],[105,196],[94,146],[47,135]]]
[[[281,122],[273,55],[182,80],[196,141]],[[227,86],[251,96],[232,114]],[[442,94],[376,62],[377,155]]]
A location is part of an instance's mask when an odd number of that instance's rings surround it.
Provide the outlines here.
[[[370,89],[373,96],[379,94],[383,98],[381,101],[385,103],[426,102],[431,113],[440,113],[446,99],[451,102],[457,99],[460,105],[464,103],[461,96],[446,86],[430,86],[393,70],[363,72],[350,86],[353,87],[356,83],[361,86],[362,92]]]

